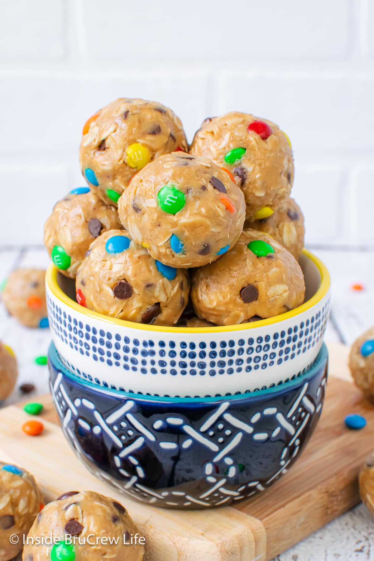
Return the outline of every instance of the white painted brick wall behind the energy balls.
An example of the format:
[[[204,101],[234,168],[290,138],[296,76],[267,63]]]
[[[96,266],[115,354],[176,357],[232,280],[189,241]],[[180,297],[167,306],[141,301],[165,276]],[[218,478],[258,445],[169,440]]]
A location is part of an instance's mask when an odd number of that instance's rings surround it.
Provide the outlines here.
[[[189,139],[239,109],[291,137],[309,245],[374,246],[374,2],[0,3],[0,245],[41,243],[82,185],[81,127],[118,96],[159,100]]]

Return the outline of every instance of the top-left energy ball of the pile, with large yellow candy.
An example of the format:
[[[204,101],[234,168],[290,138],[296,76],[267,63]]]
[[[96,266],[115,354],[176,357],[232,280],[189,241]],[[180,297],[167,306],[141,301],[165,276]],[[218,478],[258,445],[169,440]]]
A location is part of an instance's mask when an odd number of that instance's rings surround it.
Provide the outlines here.
[[[104,203],[117,204],[138,171],[173,150],[187,150],[187,140],[171,109],[144,99],[117,99],[83,127],[82,174]]]

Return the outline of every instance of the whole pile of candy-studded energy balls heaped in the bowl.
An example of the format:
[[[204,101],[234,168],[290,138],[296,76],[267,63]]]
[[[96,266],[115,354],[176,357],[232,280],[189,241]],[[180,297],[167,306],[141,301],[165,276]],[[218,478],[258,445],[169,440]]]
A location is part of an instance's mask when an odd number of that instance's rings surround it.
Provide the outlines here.
[[[82,174],[45,224],[77,302],[154,325],[232,325],[304,301],[304,220],[289,198],[288,137],[232,112],[207,118],[191,146],[160,103],[118,99],[84,125]]]

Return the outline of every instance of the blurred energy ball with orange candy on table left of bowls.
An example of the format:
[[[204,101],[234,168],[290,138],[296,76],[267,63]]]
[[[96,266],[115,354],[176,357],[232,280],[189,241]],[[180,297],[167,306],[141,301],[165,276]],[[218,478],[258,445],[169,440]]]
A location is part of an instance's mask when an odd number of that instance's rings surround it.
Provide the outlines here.
[[[2,292],[8,312],[26,327],[48,327],[45,270],[15,269]]]

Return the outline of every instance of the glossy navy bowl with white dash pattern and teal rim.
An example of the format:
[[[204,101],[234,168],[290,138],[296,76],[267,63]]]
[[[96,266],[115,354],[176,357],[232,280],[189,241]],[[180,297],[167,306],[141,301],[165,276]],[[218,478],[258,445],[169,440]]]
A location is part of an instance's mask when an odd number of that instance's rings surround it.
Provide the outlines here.
[[[322,346],[305,374],[239,396],[157,398],[77,378],[49,348],[50,388],[68,442],[100,479],[166,508],[229,505],[287,472],[321,415]]]

